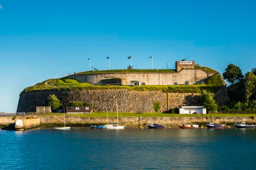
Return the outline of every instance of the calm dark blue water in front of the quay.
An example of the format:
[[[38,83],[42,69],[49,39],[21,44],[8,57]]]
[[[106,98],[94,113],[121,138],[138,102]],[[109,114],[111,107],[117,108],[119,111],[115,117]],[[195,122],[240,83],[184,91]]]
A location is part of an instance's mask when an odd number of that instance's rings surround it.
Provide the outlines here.
[[[253,169],[254,129],[0,130],[0,169]]]

